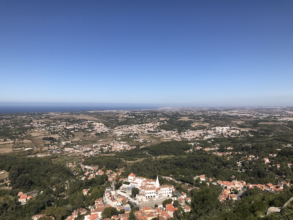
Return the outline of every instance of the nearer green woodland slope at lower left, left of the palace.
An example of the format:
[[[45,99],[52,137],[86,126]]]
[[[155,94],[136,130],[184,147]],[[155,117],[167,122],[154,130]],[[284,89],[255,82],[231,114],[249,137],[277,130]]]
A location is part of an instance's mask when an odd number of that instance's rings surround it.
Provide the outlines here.
[[[64,185],[60,183],[54,185],[54,190],[53,187],[46,187],[47,189],[24,205],[18,202],[19,190],[0,190],[0,219],[29,220],[35,214],[47,214],[55,219],[63,220],[75,209],[93,205],[96,199],[103,196],[105,188],[110,186],[110,182],[107,181],[106,175],[84,181],[71,179],[68,190],[65,190]],[[83,189],[90,189],[91,196],[84,196]]]

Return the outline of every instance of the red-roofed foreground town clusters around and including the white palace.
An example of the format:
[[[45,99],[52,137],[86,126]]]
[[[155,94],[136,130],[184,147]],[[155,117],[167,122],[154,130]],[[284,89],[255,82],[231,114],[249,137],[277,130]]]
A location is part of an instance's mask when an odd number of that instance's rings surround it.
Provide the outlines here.
[[[76,164],[70,164],[69,167],[75,167]],[[160,185],[158,177],[156,180],[150,180],[145,177],[137,177],[134,173],[128,175],[128,178],[123,178],[121,172],[113,172],[112,170],[99,170],[97,167],[84,166],[86,168],[85,176],[88,176],[88,179],[95,178],[98,175],[106,174],[108,176],[108,181],[111,182],[111,187],[105,189],[104,195],[102,198],[96,199],[95,203],[88,207],[90,214],[84,216],[84,220],[98,220],[102,218],[102,212],[107,207],[113,207],[120,211],[124,209],[124,213],[111,216],[111,218],[106,218],[104,220],[110,219],[123,219],[128,220],[128,215],[131,211],[130,204],[136,205],[139,207],[139,210],[135,211],[135,215],[139,220],[151,220],[153,218],[159,217],[161,220],[167,220],[173,217],[174,211],[178,210],[178,207],[174,207],[174,201],[177,201],[180,207],[184,212],[189,212],[191,210],[189,204],[191,199],[187,196],[186,193],[179,193],[173,187],[173,185]],[[232,176],[235,178],[234,176]],[[168,180],[173,180],[171,177],[164,177]],[[85,178],[82,177],[81,180]],[[115,181],[123,181],[122,186],[114,190]],[[277,185],[271,183],[262,185],[262,184],[249,184],[245,181],[221,181],[217,180],[213,182],[212,178],[206,177],[206,175],[198,175],[194,177],[194,180],[199,180],[200,182],[205,182],[207,185],[214,184],[219,185],[223,188],[222,193],[219,195],[219,201],[225,202],[227,200],[237,200],[240,199],[239,196],[246,189],[259,188],[267,192],[280,192],[283,190],[283,187],[289,187],[288,182],[280,182]],[[173,180],[174,182],[176,180]],[[177,181],[176,181],[177,182]],[[132,189],[137,188],[139,191],[134,196]],[[190,189],[189,189],[190,190]],[[90,189],[83,189],[84,196],[91,196],[89,193]],[[38,193],[37,191],[32,192],[19,192],[18,201],[22,204],[28,202],[28,200],[33,199]],[[166,204],[165,207],[162,206],[162,202],[166,199],[171,199],[169,204]],[[88,211],[84,208],[74,210],[72,215],[68,216],[66,220],[74,220],[78,215],[84,215]],[[39,219],[40,217],[45,216],[44,214],[39,214],[32,216],[32,219]],[[51,216],[52,217],[52,216]],[[52,217],[52,219],[54,219]]]

